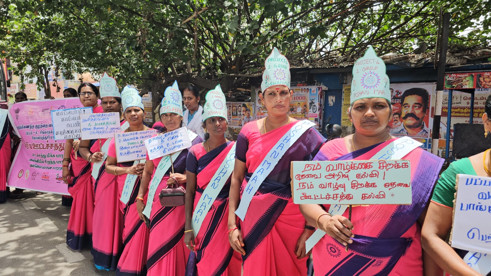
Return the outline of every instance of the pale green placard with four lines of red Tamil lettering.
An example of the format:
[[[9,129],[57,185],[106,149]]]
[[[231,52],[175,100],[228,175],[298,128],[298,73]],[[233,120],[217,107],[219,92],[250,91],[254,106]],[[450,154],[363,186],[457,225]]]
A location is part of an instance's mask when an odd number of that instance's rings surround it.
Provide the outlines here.
[[[409,160],[294,161],[296,204],[411,204]]]

